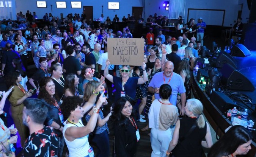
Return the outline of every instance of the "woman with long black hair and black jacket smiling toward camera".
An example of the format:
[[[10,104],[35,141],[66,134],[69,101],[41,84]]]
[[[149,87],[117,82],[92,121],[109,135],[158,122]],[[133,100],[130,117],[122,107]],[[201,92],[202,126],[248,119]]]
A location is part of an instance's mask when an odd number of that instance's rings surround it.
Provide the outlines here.
[[[114,124],[113,156],[116,157],[133,157],[137,152],[139,131],[131,102],[127,97],[119,98],[110,117]]]

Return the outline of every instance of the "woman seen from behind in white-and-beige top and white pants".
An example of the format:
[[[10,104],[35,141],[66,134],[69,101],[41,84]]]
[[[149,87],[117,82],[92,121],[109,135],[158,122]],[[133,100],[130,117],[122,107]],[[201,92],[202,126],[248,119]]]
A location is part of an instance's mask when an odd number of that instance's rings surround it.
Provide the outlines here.
[[[169,101],[171,86],[160,86],[160,99],[155,99],[148,113],[149,128],[151,128],[151,157],[166,157],[166,151],[173,136],[171,129],[179,119],[178,109]]]

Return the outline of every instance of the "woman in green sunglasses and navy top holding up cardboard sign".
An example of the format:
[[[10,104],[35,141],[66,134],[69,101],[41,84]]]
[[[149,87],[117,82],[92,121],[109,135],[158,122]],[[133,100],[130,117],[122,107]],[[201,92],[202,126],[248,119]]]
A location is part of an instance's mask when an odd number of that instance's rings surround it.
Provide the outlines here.
[[[146,81],[148,81],[148,74],[146,72],[146,64],[143,62],[141,65],[141,67],[143,69],[143,78],[130,77],[131,70],[130,70],[129,65],[123,65],[120,68],[121,78],[112,76],[112,75],[108,74],[109,65],[110,65],[110,61],[107,59],[106,67],[104,70],[104,76],[105,76],[105,78],[107,78],[110,82],[112,82],[115,85],[115,88],[116,88],[115,102],[120,97],[126,96],[126,95],[135,100],[137,85],[143,84]]]

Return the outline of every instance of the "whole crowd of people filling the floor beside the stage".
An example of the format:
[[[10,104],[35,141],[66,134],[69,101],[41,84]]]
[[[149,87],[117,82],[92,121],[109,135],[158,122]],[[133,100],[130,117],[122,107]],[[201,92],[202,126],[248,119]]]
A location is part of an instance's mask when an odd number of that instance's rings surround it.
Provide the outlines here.
[[[166,18],[156,14],[149,16],[146,21],[155,22],[156,28],[149,28],[149,33],[142,37],[144,61],[141,66],[129,66],[111,64],[107,40],[132,38],[134,14],[123,17],[122,20],[129,23],[122,32],[116,33],[108,27],[110,18],[103,14],[97,19],[100,23],[95,28],[91,20],[86,23],[84,12],[81,17],[80,14],[68,14],[67,20],[46,13],[43,20],[49,23],[41,32],[33,21],[38,18],[35,12],[32,15],[28,11],[26,16],[22,12],[17,14],[21,23],[25,17],[35,32],[30,32],[28,25],[25,34],[18,30],[14,35],[13,30],[9,30],[11,36],[7,39],[3,35],[1,42],[0,74],[4,75],[9,90],[0,93],[0,113],[8,98],[17,128],[7,128],[0,119],[3,145],[17,143],[17,136],[9,137],[10,133],[19,132],[25,157],[60,157],[63,153],[69,157],[93,157],[96,148],[97,157],[108,157],[111,154],[108,125],[112,124],[113,157],[135,156],[140,131],[149,129],[152,157],[166,157],[170,153],[176,157],[201,157],[201,146],[212,148],[209,157],[234,157],[250,150],[251,137],[239,126],[232,127],[212,146],[210,127],[202,115],[203,104],[198,99],[191,99],[192,70],[196,58],[203,54],[201,46],[206,24],[202,18],[198,19],[198,24],[190,19],[184,25],[179,17],[177,37],[171,37],[159,30],[168,25]],[[144,21],[141,17],[138,20]],[[117,15],[112,21],[119,21]],[[28,40],[32,40],[30,45]],[[28,80],[27,55],[30,51],[37,71]],[[27,81],[33,89],[28,90]],[[37,98],[30,98],[32,95]],[[105,105],[112,106],[109,113],[103,112]],[[138,128],[138,122],[146,121],[146,127]],[[237,132],[243,134],[236,136]],[[89,136],[96,148],[89,144]],[[237,140],[232,149],[218,151],[229,145],[230,138],[242,140]],[[220,142],[225,145],[218,144]],[[63,152],[65,143],[68,152]],[[3,151],[3,156],[10,150],[11,146]]]

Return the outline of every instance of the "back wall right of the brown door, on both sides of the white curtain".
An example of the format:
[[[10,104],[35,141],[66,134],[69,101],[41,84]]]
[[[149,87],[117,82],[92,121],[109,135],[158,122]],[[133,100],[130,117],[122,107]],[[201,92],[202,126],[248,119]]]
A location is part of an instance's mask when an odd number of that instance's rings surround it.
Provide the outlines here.
[[[168,16],[168,11],[165,11],[162,4],[163,2],[168,0],[146,0],[145,6],[145,14],[146,17],[149,15],[154,15],[154,13],[159,12],[160,6],[160,14],[163,16]],[[234,25],[234,20],[237,20],[237,13],[240,10],[240,5],[243,3],[243,11],[242,11],[242,22],[246,23],[246,18],[249,17],[249,10],[247,6],[247,0],[186,0],[185,4],[185,22],[187,22],[188,8],[193,9],[223,9],[225,10],[225,19],[223,26]],[[198,17],[194,17],[194,19],[198,19]],[[206,23],[207,24],[207,23]]]

